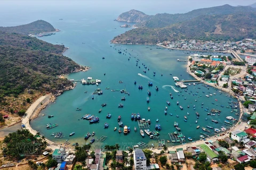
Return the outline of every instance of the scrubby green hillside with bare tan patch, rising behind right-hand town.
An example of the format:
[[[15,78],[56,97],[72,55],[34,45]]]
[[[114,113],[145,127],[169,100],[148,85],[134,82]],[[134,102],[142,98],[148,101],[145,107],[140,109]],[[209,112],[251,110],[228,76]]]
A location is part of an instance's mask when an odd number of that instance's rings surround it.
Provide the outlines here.
[[[230,15],[201,15],[164,28],[137,28],[111,40],[121,44],[156,44],[166,40],[241,40],[256,38],[256,12]]]

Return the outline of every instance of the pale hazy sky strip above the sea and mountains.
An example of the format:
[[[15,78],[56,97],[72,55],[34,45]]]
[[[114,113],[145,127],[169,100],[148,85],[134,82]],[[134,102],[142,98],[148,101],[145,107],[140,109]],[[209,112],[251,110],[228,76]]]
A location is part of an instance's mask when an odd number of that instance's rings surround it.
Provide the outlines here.
[[[166,0],[166,1],[0,1],[0,14],[2,12],[11,12],[16,10],[34,10],[45,11],[51,10],[54,8],[61,8],[63,10],[111,10],[117,13],[126,12],[132,9],[142,11],[149,15],[154,15],[156,13],[186,13],[198,8],[220,6],[229,4],[231,6],[237,5],[250,5],[256,3],[256,1],[250,0],[238,0],[238,1],[195,1],[195,0]]]

